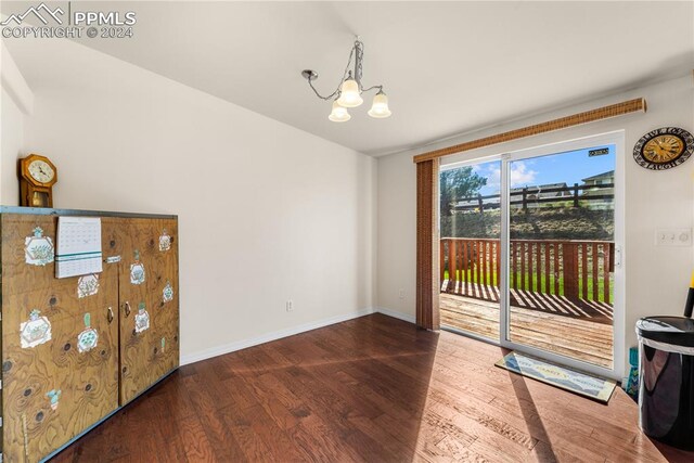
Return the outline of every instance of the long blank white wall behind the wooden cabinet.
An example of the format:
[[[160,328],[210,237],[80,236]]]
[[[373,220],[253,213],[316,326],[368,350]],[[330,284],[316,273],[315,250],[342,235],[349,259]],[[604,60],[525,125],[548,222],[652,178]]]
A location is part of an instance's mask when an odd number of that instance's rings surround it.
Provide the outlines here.
[[[67,40],[10,48],[55,207],[179,216],[184,362],[370,310],[374,159]]]

